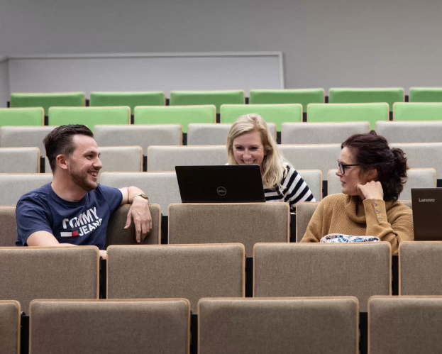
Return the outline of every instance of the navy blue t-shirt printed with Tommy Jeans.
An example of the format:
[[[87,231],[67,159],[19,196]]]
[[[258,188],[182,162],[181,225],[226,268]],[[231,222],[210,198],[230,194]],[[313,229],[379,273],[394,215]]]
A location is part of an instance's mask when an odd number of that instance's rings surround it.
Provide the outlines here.
[[[36,231],[48,231],[60,243],[95,245],[104,250],[109,217],[123,200],[119,189],[99,185],[82,200],[66,201],[55,194],[51,184],[29,192],[16,209],[16,245]]]

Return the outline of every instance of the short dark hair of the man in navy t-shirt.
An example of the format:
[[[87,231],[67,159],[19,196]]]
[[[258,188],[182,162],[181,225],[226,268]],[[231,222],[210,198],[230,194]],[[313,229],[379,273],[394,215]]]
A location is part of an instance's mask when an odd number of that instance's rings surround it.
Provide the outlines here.
[[[69,124],[58,126],[43,139],[46,157],[48,157],[50,169],[53,170],[53,173],[55,167],[57,167],[57,155],[72,155],[75,148],[77,148],[72,140],[73,135],[87,135],[94,138],[94,133],[87,126]]]

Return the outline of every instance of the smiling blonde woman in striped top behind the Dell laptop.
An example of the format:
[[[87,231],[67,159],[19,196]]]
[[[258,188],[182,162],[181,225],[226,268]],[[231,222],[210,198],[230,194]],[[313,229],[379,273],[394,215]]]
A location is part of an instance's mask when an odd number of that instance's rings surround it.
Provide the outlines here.
[[[239,117],[227,135],[229,165],[259,165],[265,201],[284,201],[295,211],[299,201],[315,201],[301,175],[282,157],[263,117]]]

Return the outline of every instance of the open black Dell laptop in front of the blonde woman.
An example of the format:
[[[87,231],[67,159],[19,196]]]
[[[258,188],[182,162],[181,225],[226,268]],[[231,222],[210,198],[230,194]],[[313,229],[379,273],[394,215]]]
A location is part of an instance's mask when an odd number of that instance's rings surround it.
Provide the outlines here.
[[[258,165],[175,166],[183,203],[265,201]]]

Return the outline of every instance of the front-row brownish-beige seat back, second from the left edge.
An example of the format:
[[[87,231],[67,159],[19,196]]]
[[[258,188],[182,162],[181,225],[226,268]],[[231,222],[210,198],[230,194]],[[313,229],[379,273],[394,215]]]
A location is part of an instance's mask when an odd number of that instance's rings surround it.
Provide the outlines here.
[[[30,353],[189,353],[187,299],[36,300]]]

